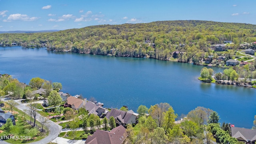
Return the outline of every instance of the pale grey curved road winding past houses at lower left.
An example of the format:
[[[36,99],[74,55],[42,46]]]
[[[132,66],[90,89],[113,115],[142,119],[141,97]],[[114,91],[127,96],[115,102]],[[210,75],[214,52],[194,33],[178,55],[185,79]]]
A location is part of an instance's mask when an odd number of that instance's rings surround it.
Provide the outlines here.
[[[2,99],[2,100],[6,101],[4,99]],[[24,104],[22,104],[20,102],[20,100],[17,100],[16,102],[18,103],[16,108],[18,108],[19,110],[22,110],[23,112],[26,112],[26,114],[29,115],[29,108],[27,106],[25,106]],[[37,113],[36,114],[36,120],[38,120],[40,122],[41,118],[42,118],[42,116]],[[49,135],[46,136],[45,138],[43,138],[42,140],[39,140],[37,142],[31,142],[29,144],[48,144],[49,142],[51,142],[52,140],[54,140],[55,138],[58,137],[58,135],[60,134],[60,131],[62,130],[62,127],[55,124],[51,120],[47,120],[47,122],[48,122],[47,127],[48,127],[48,130],[49,130]],[[9,143],[0,140],[0,144],[9,144]]]

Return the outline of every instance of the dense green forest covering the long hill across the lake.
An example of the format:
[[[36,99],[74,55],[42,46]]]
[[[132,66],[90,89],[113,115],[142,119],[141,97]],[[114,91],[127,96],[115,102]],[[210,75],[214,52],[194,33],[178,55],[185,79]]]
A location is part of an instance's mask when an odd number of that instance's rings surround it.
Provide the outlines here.
[[[200,20],[158,21],[142,24],[98,25],[59,32],[0,34],[1,46],[46,46],[48,50],[170,60],[180,51],[181,62],[204,58],[213,44],[256,42],[256,25]],[[14,44],[13,44],[14,43]]]

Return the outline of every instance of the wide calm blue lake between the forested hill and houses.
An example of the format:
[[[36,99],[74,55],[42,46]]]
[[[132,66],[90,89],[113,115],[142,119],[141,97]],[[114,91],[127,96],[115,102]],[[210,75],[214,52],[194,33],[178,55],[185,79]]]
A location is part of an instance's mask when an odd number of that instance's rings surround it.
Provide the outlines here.
[[[0,47],[0,73],[29,83],[40,77],[62,83],[63,92],[104,103],[138,106],[167,102],[179,116],[197,106],[218,112],[220,122],[251,128],[256,115],[256,89],[200,82],[203,66],[160,61],[47,51],[45,48]],[[214,72],[223,68],[213,67]]]

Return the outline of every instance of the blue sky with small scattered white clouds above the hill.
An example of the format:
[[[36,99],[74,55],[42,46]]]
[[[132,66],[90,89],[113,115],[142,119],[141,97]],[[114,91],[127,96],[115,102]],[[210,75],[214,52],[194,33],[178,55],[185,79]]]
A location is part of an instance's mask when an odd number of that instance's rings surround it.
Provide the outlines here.
[[[210,20],[256,24],[256,0],[0,0],[0,31]]]

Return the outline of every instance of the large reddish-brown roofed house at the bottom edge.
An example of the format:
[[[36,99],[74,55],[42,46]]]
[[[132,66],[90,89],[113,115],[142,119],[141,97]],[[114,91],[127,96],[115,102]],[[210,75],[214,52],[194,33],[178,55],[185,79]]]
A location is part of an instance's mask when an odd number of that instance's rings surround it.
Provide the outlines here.
[[[113,128],[110,132],[96,130],[93,135],[88,136],[85,144],[122,144],[127,136],[123,126]]]

